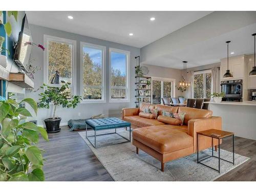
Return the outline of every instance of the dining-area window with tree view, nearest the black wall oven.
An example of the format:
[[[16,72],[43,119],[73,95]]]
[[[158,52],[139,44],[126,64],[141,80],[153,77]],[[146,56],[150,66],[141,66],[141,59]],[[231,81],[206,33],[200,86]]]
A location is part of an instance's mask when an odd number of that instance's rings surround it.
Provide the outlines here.
[[[211,97],[211,72],[210,70],[194,74],[194,98],[210,98]]]

